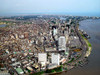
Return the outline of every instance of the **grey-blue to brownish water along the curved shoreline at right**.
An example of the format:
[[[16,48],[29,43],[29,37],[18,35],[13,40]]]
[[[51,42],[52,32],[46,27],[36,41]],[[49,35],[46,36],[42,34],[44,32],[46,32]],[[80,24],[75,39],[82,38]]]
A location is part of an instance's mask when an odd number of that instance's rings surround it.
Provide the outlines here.
[[[100,75],[100,19],[80,22],[83,29],[91,36],[92,52],[88,64],[57,75]]]

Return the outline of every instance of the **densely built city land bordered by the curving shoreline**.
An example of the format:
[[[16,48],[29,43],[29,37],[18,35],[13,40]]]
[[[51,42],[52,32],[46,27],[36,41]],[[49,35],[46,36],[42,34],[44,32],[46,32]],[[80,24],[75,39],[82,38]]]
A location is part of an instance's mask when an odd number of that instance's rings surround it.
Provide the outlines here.
[[[79,22],[98,17],[27,15],[0,17],[0,72],[41,75],[87,63],[92,46]]]

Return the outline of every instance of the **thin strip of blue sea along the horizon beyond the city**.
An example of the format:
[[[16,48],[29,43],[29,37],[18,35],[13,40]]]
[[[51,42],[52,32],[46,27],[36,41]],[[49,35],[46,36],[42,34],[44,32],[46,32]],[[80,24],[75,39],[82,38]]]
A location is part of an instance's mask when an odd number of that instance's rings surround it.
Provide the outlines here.
[[[68,12],[62,12],[62,13],[56,13],[56,12],[37,12],[37,13],[6,13],[6,14],[0,14],[0,16],[22,16],[22,15],[68,15],[68,16],[90,16],[90,17],[100,17],[100,13],[68,13]]]

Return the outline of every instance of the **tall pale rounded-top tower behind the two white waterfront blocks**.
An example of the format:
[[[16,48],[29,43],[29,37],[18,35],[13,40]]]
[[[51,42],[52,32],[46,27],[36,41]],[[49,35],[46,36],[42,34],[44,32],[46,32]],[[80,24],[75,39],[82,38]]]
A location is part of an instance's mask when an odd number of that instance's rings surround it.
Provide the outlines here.
[[[59,51],[66,50],[66,38],[65,36],[60,36],[58,39],[58,49]]]

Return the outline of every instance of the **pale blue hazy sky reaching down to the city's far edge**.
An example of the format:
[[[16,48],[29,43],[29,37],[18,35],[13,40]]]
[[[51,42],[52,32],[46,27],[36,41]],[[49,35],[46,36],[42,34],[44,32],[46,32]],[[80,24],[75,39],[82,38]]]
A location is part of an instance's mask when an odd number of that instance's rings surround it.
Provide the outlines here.
[[[100,0],[0,0],[0,15],[32,13],[100,16]]]

